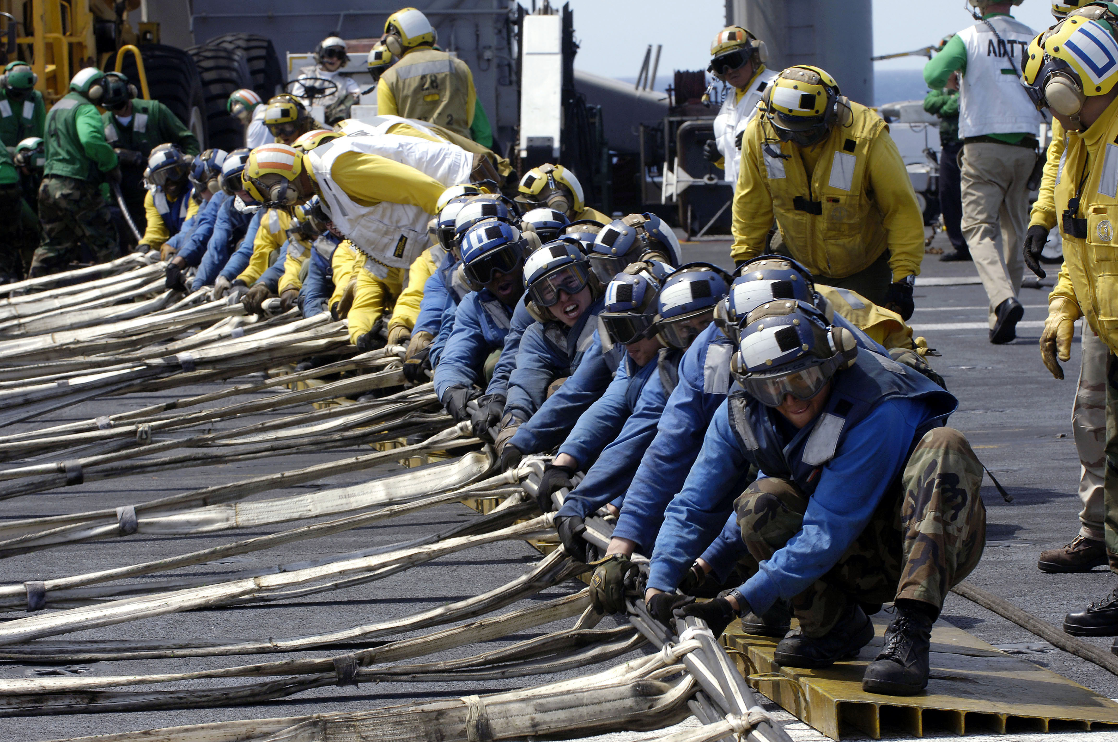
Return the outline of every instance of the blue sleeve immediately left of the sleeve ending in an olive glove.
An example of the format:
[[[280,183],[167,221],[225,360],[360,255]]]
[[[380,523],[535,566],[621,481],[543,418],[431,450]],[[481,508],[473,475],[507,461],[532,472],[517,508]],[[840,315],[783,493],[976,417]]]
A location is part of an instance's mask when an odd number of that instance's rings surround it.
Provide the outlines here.
[[[603,449],[586,477],[563,502],[560,515],[586,517],[587,513],[593,513],[609,502],[622,506],[637,465],[656,436],[656,424],[664,413],[665,401],[660,374],[653,371],[641,390],[633,415],[625,420],[622,431]],[[566,446],[563,444],[559,451],[565,453]]]

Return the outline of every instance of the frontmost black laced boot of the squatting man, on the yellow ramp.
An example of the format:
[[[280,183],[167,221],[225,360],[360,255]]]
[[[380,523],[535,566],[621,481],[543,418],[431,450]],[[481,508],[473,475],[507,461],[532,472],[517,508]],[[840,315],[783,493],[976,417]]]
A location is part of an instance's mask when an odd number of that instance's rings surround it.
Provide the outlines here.
[[[931,606],[902,600],[885,629],[885,646],[862,676],[862,689],[885,695],[913,695],[928,686]]]

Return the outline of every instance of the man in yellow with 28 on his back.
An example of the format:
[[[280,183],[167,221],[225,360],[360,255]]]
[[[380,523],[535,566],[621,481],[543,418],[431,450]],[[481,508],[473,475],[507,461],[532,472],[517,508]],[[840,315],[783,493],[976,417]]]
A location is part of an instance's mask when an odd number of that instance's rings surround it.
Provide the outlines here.
[[[477,93],[470,65],[435,49],[435,28],[415,8],[385,22],[385,46],[398,61],[377,83],[377,113],[429,121],[473,139]]]

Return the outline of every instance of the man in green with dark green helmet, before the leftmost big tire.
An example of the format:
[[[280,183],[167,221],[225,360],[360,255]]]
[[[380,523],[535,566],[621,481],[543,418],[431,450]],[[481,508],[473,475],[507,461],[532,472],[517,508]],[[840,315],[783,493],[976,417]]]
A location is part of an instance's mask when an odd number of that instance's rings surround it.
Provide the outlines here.
[[[102,114],[105,122],[105,141],[121,159],[121,193],[129,213],[140,232],[146,226],[143,200],[143,171],[151,151],[160,144],[178,144],[183,154],[198,154],[198,137],[183,125],[171,110],[159,101],[136,98],[136,88],[121,73],[105,73],[105,93],[98,104],[107,108]],[[111,203],[110,209],[116,204]],[[122,235],[134,242],[132,232]]]

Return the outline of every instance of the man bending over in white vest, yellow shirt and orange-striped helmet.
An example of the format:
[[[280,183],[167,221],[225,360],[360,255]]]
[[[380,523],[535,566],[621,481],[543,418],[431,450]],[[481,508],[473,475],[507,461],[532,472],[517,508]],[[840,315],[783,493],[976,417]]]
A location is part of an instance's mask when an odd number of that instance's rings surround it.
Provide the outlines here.
[[[338,230],[366,256],[363,269],[402,287],[404,268],[429,245],[427,221],[446,185],[361,151],[360,139],[339,136],[305,153],[283,144],[257,148],[245,169],[246,188],[256,200],[285,208],[318,193]],[[371,327],[350,336],[362,352],[383,345]]]

